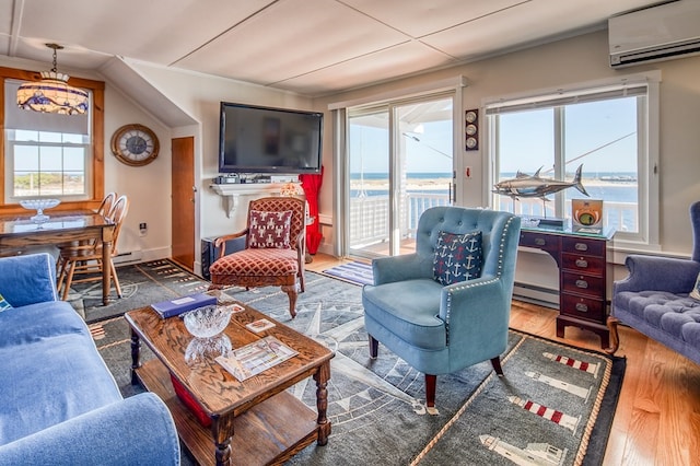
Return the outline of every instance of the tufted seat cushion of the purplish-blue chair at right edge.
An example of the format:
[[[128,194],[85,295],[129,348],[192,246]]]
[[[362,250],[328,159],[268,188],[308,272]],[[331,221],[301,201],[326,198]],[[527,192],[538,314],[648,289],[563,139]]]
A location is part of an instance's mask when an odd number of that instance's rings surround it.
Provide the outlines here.
[[[665,331],[672,338],[700,347],[700,302],[667,291],[622,291],[616,305]]]

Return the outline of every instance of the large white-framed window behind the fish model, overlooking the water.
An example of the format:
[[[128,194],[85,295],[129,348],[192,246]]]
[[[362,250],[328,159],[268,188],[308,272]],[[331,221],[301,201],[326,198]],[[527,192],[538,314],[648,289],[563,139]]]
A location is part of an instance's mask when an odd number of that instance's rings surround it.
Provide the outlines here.
[[[571,199],[603,199],[604,224],[617,238],[654,241],[649,224],[657,180],[649,153],[648,82],[501,101],[487,105],[487,115],[492,185],[518,172],[573,185],[547,200],[492,194],[495,209],[570,219]],[[581,184],[574,185],[579,167]]]

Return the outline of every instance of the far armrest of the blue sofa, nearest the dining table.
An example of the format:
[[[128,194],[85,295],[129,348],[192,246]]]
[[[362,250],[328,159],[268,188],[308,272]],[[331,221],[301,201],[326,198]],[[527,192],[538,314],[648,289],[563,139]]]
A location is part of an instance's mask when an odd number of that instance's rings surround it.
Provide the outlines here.
[[[0,258],[0,294],[13,307],[58,301],[55,258],[47,253]]]

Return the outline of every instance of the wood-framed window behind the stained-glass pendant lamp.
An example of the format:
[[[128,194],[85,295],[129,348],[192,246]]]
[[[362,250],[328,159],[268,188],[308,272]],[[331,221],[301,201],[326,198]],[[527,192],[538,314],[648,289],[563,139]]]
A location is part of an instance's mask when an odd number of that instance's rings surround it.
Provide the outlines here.
[[[104,195],[104,83],[71,79],[90,91],[85,115],[52,115],[15,105],[21,82],[36,73],[0,68],[4,132],[0,210],[11,210],[26,198],[51,197],[74,208],[91,208]]]

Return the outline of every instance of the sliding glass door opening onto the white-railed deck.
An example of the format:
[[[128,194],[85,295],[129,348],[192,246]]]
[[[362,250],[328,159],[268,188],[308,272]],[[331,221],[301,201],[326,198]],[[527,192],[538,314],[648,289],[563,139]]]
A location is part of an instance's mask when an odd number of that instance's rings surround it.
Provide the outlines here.
[[[420,214],[451,202],[453,100],[349,110],[349,255],[412,253]]]

